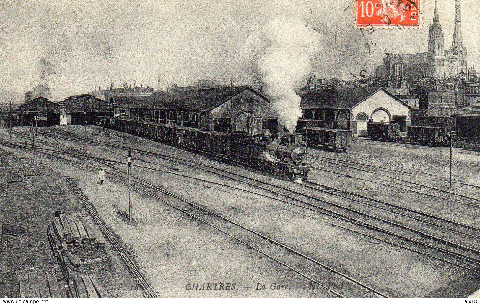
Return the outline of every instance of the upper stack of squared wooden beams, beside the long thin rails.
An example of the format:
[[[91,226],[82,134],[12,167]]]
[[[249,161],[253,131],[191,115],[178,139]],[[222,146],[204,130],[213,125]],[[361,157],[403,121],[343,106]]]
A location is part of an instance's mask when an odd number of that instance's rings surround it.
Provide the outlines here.
[[[47,235],[54,254],[57,250],[76,253],[105,248],[105,239],[84,225],[76,214],[55,216],[48,225]]]

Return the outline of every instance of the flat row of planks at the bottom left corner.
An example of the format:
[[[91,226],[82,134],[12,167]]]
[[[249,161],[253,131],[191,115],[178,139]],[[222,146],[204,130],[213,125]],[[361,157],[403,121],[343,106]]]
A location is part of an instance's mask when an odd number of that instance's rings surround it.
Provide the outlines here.
[[[18,277],[19,298],[62,299],[67,298],[67,293],[62,289],[56,275],[37,276],[20,275]]]

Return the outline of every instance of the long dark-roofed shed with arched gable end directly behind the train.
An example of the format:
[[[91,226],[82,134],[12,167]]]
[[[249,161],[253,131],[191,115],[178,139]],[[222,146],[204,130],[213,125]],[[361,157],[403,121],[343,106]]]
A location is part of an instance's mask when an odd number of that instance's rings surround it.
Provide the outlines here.
[[[111,100],[114,117],[252,135],[283,131],[268,98],[249,86],[157,91],[148,97]]]

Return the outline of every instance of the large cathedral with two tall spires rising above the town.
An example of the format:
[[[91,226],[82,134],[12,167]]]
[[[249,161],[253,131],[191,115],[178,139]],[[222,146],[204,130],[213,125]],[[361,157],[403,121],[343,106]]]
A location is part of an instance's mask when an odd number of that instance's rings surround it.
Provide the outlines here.
[[[463,77],[467,73],[467,49],[463,44],[460,0],[455,0],[455,30],[452,46],[444,49],[444,32],[438,15],[437,1],[433,23],[428,31],[428,52],[417,54],[387,53],[383,64],[375,67],[375,77],[390,79],[443,80]]]

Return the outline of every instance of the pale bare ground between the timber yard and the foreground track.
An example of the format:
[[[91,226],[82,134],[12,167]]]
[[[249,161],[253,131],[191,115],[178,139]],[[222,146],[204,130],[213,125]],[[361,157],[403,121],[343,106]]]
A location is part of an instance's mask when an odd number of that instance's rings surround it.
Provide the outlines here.
[[[15,152],[28,155],[27,152]],[[96,174],[74,167],[66,169],[64,164],[47,159],[42,162],[77,179],[84,194],[130,248],[147,279],[162,297],[331,297],[324,290],[309,290],[310,282],[306,279],[216,229],[135,191],[133,215],[137,225],[129,225],[116,213],[117,208],[128,210],[126,187],[108,179],[100,186]],[[189,283],[199,286],[235,283],[236,289],[192,291],[187,290]],[[265,285],[266,289],[255,290],[257,283]],[[289,289],[271,289],[272,283],[288,285]]]

